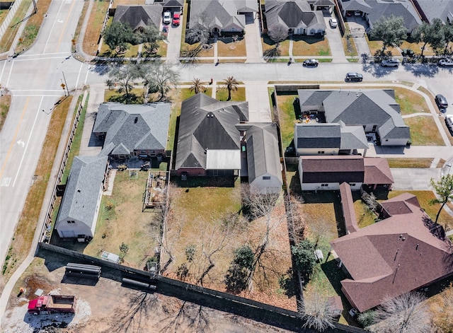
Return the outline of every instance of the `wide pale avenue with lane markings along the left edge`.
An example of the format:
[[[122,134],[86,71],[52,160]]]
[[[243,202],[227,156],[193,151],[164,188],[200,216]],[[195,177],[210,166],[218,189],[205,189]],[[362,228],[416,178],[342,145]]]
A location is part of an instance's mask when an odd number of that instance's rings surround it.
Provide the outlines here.
[[[0,81],[13,95],[0,133],[0,262],[33,183],[52,107],[64,95],[63,72],[69,90],[87,65],[71,57],[71,39],[83,1],[52,1],[35,45],[17,58],[0,63]],[[84,76],[83,76],[84,78]]]

